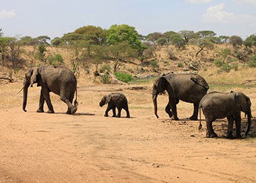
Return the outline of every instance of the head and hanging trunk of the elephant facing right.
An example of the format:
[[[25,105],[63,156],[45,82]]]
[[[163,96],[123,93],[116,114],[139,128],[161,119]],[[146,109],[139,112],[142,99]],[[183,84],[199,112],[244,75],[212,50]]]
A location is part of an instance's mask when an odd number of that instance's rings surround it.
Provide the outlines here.
[[[234,100],[241,108],[241,111],[247,114],[247,131],[245,132],[245,135],[247,135],[251,129],[251,100],[242,92],[236,92],[234,95]]]

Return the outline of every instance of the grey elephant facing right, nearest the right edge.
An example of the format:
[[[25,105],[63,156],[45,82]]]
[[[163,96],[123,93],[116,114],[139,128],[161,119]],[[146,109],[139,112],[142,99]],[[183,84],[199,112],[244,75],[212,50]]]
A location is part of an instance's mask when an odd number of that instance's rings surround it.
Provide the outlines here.
[[[234,138],[232,135],[233,123],[236,124],[236,138],[241,138],[241,111],[247,114],[247,135],[251,128],[251,100],[243,92],[222,93],[213,91],[206,94],[199,103],[199,130],[201,129],[201,109],[205,116],[207,132],[206,137],[218,137],[212,128],[212,122],[218,118],[228,119],[227,138]]]

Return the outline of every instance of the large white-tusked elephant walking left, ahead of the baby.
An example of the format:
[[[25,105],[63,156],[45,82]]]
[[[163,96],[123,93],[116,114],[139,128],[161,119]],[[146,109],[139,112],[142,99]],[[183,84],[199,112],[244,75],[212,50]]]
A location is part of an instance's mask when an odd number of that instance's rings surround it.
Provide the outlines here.
[[[54,113],[50,92],[57,94],[68,106],[67,114],[74,114],[77,110],[77,80],[73,72],[67,67],[53,67],[42,65],[28,69],[23,87],[23,110],[26,112],[28,87],[37,83],[41,87],[39,108],[36,112],[44,112],[44,101],[49,108],[48,113]],[[75,95],[74,106],[72,104]]]

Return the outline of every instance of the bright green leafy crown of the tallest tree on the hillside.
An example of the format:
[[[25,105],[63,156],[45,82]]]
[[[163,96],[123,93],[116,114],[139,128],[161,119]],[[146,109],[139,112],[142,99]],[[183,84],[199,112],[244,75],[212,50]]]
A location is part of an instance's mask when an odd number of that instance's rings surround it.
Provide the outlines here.
[[[113,25],[108,29],[108,44],[114,45],[120,42],[127,42],[135,50],[141,50],[141,40],[135,27],[126,24]]]

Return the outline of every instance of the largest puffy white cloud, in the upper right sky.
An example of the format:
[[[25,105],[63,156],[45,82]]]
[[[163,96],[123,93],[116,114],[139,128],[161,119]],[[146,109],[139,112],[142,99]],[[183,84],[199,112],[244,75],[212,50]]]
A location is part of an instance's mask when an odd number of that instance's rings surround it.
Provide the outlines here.
[[[254,19],[252,15],[234,14],[224,10],[225,3],[208,7],[203,15],[205,22],[232,23],[232,22],[249,22]]]

